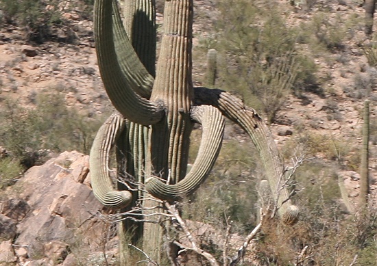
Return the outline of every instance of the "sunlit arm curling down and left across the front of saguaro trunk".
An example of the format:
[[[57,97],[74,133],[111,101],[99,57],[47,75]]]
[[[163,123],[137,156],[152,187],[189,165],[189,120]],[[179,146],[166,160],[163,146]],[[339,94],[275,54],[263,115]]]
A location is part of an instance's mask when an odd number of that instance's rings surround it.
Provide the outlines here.
[[[201,105],[193,107],[191,117],[202,124],[203,132],[190,172],[174,185],[162,183],[157,178],[145,182],[149,194],[161,200],[178,200],[193,193],[204,182],[219,155],[225,124],[221,112],[210,105]]]

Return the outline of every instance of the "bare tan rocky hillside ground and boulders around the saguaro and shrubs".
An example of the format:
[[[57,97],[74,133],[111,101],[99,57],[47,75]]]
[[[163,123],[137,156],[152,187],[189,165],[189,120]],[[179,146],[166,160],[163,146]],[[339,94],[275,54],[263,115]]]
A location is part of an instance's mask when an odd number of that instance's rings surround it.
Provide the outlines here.
[[[160,2],[157,18],[162,23]],[[289,25],[310,23],[323,10],[334,20],[337,16],[360,21],[363,18],[363,8],[351,0],[313,1],[309,11],[300,1],[293,2],[294,6],[288,1],[278,2],[277,10],[287,17]],[[213,25],[219,19],[216,4],[217,1],[195,1],[197,46],[215,32]],[[84,116],[106,114],[112,109],[99,77],[92,22],[80,16],[80,10],[71,10],[64,16],[73,25],[71,44],[49,41],[36,45],[25,41],[23,29],[1,25],[0,105],[12,98],[32,109],[36,96],[47,92],[62,94],[66,105]],[[370,90],[371,120],[376,122],[377,70],[369,66],[363,48],[372,41],[363,33],[363,27],[352,30],[354,37],[345,40],[342,49],[316,55],[308,52],[319,69],[317,78],[324,93],[308,90],[300,95],[290,94],[278,113],[278,122],[271,124],[271,131],[283,151],[305,142],[304,133],[317,137],[319,144],[333,145],[328,147],[332,150],[330,155],[323,149],[316,158],[337,164],[346,196],[354,203],[359,174],[352,158],[358,157],[361,147],[365,90]],[[64,31],[57,30],[56,35],[58,40],[68,38]],[[195,49],[194,58],[193,80],[202,85],[206,69],[202,50]],[[244,139],[242,132],[239,135]],[[375,199],[377,139],[373,135],[370,144],[369,170]],[[51,157],[1,192],[0,265],[117,265],[114,227],[95,217],[98,211],[106,210],[91,192],[88,156],[72,151]]]

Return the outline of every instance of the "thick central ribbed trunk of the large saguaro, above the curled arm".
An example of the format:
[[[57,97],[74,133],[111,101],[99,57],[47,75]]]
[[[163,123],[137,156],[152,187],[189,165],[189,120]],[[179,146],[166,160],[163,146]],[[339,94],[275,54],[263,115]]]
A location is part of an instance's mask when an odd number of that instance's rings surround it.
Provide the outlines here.
[[[151,159],[154,170],[171,183],[184,177],[189,150],[193,85],[191,81],[192,0],[165,2],[164,34],[156,67],[152,101],[167,107],[165,121],[152,127]],[[155,145],[154,143],[160,143]]]

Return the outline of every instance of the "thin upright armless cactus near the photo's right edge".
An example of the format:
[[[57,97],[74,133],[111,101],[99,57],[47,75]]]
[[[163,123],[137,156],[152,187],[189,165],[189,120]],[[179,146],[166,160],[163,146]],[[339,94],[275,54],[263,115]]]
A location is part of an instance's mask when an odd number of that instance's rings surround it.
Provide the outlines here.
[[[369,195],[369,100],[364,101],[363,117],[364,123],[360,172],[360,205],[362,209],[365,209],[367,207]]]

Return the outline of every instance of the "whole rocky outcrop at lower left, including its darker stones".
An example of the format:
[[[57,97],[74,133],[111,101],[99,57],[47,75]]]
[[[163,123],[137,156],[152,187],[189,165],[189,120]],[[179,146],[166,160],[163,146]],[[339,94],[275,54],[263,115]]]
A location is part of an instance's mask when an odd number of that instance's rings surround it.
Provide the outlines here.
[[[30,168],[1,204],[0,265],[93,265],[114,228],[93,217],[104,211],[90,187],[88,156],[63,152]],[[5,230],[6,229],[6,230]],[[111,234],[110,234],[111,235]],[[109,245],[114,254],[116,239]],[[101,265],[101,264],[98,264]]]

